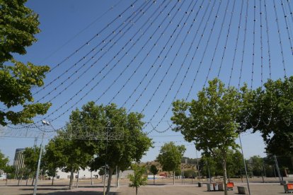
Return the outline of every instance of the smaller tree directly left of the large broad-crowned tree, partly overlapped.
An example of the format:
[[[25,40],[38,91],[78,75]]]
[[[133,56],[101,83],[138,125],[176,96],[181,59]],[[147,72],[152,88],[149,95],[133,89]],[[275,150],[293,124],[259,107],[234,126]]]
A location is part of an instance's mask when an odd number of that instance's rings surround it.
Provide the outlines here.
[[[84,151],[84,141],[69,140],[65,135],[70,131],[71,126],[67,125],[64,131],[59,131],[58,136],[49,141],[45,153],[45,162],[49,169],[62,168],[64,172],[70,172],[69,189],[72,188],[74,172],[85,169],[93,156]]]

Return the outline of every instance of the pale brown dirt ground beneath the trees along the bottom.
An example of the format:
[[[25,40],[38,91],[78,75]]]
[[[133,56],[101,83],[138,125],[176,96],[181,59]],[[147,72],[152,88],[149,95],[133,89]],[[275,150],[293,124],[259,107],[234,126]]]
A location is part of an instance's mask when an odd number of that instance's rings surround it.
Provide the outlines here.
[[[103,183],[100,179],[93,180],[93,186],[90,179],[80,179],[78,188],[76,187],[76,180],[74,181],[74,188],[69,190],[68,179],[58,179],[54,181],[54,186],[51,186],[50,180],[40,180],[38,185],[38,194],[103,194]],[[198,180],[194,179],[176,179],[176,184],[173,185],[172,179],[159,179],[156,180],[156,184],[153,184],[153,180],[149,180],[148,184],[144,187],[140,187],[138,190],[139,195],[146,194],[224,194],[223,191],[207,191],[207,186],[197,187]],[[208,182],[207,180],[201,180],[201,182]],[[217,181],[215,181],[217,182]],[[234,182],[234,191],[229,191],[228,194],[238,194],[237,186],[245,186],[245,181],[241,182],[240,179],[232,179]],[[9,180],[7,186],[5,181],[0,181],[0,194],[33,194],[33,187],[26,186],[25,181],[21,181],[18,186],[18,181]],[[115,179],[113,179],[113,184]],[[31,181],[28,181],[31,184]],[[120,180],[120,187],[111,187],[110,194],[119,195],[131,195],[135,194],[135,189],[128,187],[129,181],[127,179]],[[265,178],[265,183],[260,178],[253,178],[250,180],[251,194],[285,194],[284,187],[277,182],[275,178]],[[247,193],[248,194],[248,193]]]

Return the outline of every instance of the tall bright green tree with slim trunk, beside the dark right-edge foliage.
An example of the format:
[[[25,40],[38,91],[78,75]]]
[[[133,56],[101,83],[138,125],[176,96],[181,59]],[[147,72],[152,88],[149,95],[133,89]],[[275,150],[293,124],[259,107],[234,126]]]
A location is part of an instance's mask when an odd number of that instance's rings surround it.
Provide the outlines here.
[[[244,86],[243,92],[246,90]],[[224,83],[215,78],[209,86],[197,93],[197,100],[173,102],[173,117],[186,141],[195,142],[197,150],[203,150],[213,156],[219,151],[224,170],[224,193],[226,191],[226,159],[229,148],[236,149],[239,136],[239,114],[242,96],[234,87],[225,88]]]

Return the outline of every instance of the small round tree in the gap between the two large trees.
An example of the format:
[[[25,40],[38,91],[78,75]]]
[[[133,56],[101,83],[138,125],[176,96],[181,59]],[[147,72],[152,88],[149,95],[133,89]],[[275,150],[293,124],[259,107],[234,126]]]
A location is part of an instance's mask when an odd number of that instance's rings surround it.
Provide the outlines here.
[[[171,141],[165,143],[160,150],[158,157],[156,158],[158,162],[162,165],[163,171],[173,172],[173,184],[175,184],[175,171],[180,170],[181,158],[185,152],[185,147],[175,146]]]

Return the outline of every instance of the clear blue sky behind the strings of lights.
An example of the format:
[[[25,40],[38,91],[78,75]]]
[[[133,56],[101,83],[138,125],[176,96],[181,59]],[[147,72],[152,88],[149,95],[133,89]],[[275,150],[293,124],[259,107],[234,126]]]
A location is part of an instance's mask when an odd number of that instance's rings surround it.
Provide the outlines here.
[[[35,101],[52,102],[35,122],[47,119],[49,130],[58,129],[90,100],[115,102],[145,115],[144,131],[155,147],[142,161],[154,160],[168,141],[185,145],[185,156],[195,158],[193,143],[168,129],[171,102],[196,99],[215,77],[236,88],[243,82],[257,88],[268,78],[291,76],[292,4],[280,2],[274,8],[273,1],[263,0],[30,0],[26,5],[39,14],[42,32],[28,54],[16,58],[52,69],[45,88],[33,90]],[[16,148],[34,143],[16,136],[40,132],[33,126],[13,128],[0,137],[1,151],[11,161]],[[265,156],[260,134],[242,138],[246,158]]]

